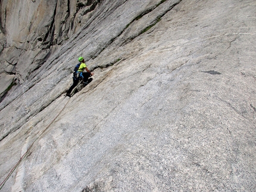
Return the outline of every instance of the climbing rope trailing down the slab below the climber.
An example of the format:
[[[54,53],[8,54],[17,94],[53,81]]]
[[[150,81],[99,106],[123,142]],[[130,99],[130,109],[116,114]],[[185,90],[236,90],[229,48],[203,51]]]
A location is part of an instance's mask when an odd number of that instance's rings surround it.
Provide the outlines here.
[[[70,98],[68,99],[67,103],[70,101]],[[1,182],[0,184],[0,190],[2,189],[2,187],[4,187],[5,182],[8,180],[8,178],[10,178],[11,174],[13,174],[14,170],[17,168],[17,166],[20,164],[20,162],[26,158],[26,155],[29,153],[29,150],[32,148],[33,144],[36,142],[36,140],[39,139],[40,136],[42,136],[43,133],[45,133],[45,131],[52,125],[52,123],[57,119],[57,117],[61,114],[61,112],[63,112],[63,110],[65,109],[65,107],[67,106],[67,103],[65,104],[65,106],[63,107],[63,109],[61,109],[61,111],[58,113],[58,115],[51,121],[51,123],[45,128],[45,130],[43,130],[43,132],[35,139],[35,141],[33,141],[33,143],[30,145],[29,149],[27,149],[27,151],[24,153],[23,156],[21,156],[20,160],[16,163],[16,165],[13,167],[13,169],[11,169],[10,173],[7,175],[7,177],[5,178],[4,181]]]

